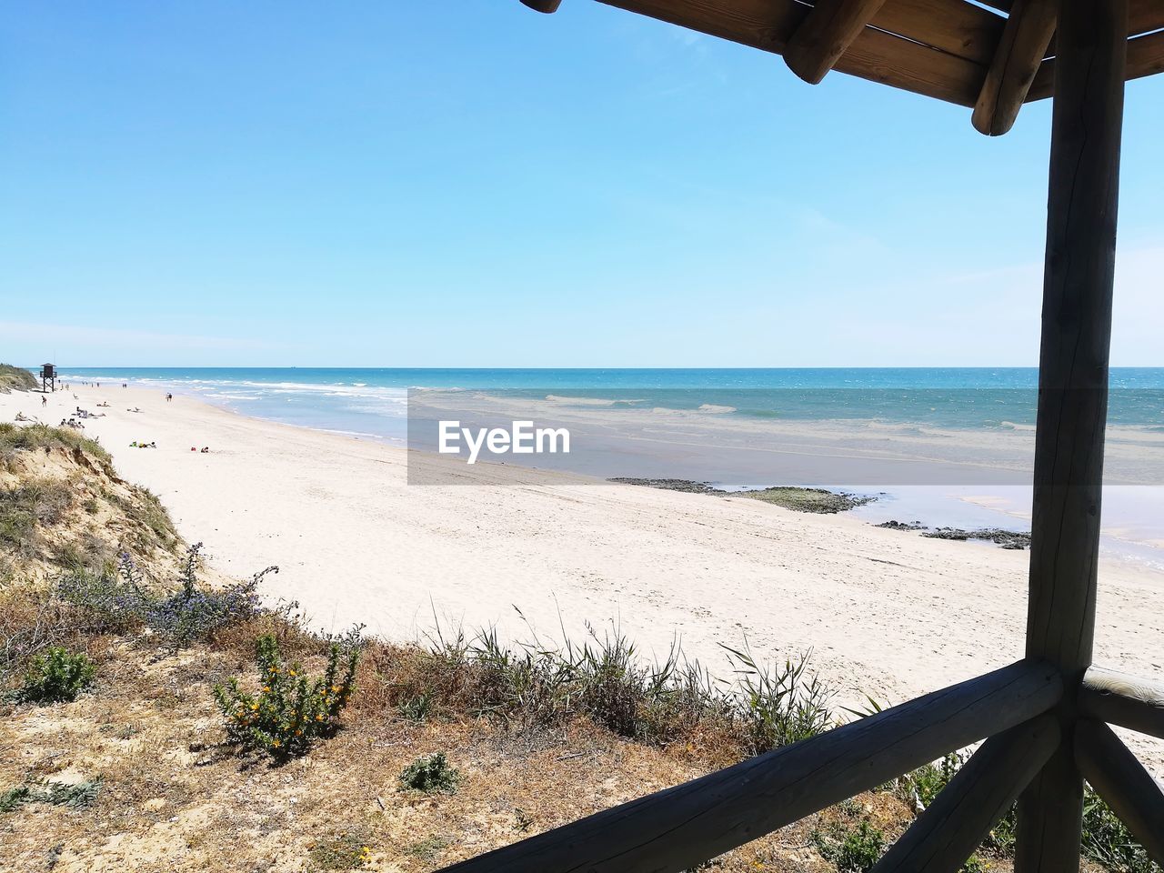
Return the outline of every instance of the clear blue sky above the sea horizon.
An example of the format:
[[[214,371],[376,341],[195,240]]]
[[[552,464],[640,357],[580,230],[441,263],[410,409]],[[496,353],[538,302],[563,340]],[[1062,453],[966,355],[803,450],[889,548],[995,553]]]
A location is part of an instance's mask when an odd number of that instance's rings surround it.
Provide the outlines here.
[[[2,0],[0,360],[1032,364],[1049,123],[592,0]],[[1131,83],[1116,364],[1162,141]]]

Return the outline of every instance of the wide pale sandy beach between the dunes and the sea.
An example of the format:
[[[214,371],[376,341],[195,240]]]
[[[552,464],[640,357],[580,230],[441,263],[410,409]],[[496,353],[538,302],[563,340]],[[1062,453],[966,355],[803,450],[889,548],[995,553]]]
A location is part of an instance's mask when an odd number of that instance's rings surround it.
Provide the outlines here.
[[[363,622],[413,637],[435,610],[523,636],[517,606],[551,638],[560,622],[579,634],[613,619],[661,654],[679,636],[719,675],[729,665],[718,644],[746,637],[764,658],[814,650],[816,670],[849,701],[900,702],[1023,653],[1025,552],[512,467],[477,464],[462,487],[410,487],[403,449],[120,386],[58,392],[43,412],[38,395],[0,395],[0,420],[22,410],[56,424],[100,400],[108,416],[85,433],[122,475],[158,494],[218,569],[278,565],[265,592],[300,601],[327,627]],[[135,439],[158,448],[130,448]],[[1162,601],[1164,575],[1101,565],[1096,662],[1159,675]],[[1141,748],[1164,773],[1164,750]]]

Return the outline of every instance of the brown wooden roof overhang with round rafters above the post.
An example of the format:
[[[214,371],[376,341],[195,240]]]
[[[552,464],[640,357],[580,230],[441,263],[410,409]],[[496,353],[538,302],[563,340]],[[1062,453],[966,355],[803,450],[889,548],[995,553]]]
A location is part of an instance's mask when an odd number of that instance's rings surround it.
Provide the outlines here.
[[[974,127],[1010,129],[1050,97],[1057,0],[599,0],[782,55],[816,84],[829,70],[974,107]],[[554,12],[561,0],[521,0]],[[1164,0],[1128,0],[1127,78],[1164,71]]]

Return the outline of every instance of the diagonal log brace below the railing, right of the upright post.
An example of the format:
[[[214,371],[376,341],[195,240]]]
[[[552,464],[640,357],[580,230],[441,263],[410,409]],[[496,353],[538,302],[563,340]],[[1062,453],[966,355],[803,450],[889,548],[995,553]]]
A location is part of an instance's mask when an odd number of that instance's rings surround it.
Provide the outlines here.
[[[1164,866],[1164,790],[1106,724],[1080,722],[1076,761],[1154,861]]]

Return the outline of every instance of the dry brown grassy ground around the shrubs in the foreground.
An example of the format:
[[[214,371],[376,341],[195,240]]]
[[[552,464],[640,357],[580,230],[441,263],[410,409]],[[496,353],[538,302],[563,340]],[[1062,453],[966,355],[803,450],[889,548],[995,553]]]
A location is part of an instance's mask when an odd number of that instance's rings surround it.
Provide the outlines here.
[[[246,674],[248,637],[157,658],[118,638],[93,638],[93,690],[74,703],[21,707],[0,726],[0,790],[29,780],[101,776],[87,809],[31,803],[0,815],[0,853],[13,870],[326,870],[345,846],[359,866],[435,870],[704,772],[691,754],[619,738],[587,719],[516,729],[484,716],[410,719],[379,701],[384,667],[365,662],[334,739],[278,767],[223,745],[210,688]],[[289,629],[289,641],[297,632]],[[320,658],[300,639],[307,665]],[[314,644],[318,651],[318,644]],[[445,752],[462,774],[455,794],[399,789],[418,755]],[[801,825],[722,859],[723,871],[828,870]],[[360,853],[363,856],[362,851]],[[7,867],[6,867],[7,868]],[[348,867],[348,868],[354,868]]]

